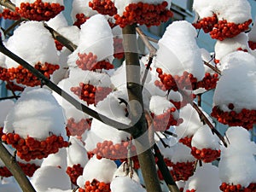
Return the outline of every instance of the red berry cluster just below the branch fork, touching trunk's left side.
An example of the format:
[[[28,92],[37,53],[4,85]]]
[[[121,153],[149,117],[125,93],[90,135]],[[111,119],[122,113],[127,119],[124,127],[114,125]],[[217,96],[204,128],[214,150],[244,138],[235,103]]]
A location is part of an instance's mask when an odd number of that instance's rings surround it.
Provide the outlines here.
[[[96,148],[91,151],[92,154],[96,154],[97,159],[108,158],[111,160],[125,159],[128,153],[129,142],[121,142],[113,144],[112,141],[104,141],[103,143],[97,143]],[[135,154],[136,148],[131,146],[131,154]]]

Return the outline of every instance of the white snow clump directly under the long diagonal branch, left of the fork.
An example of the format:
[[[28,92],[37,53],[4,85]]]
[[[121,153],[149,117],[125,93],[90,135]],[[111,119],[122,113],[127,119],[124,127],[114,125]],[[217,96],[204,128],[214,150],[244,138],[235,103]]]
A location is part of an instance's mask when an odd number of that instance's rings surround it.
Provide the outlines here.
[[[96,148],[97,143],[104,141],[112,141],[113,144],[126,141],[130,137],[125,131],[119,131],[112,126],[106,125],[97,119],[93,119],[90,126],[90,131],[87,132],[85,139],[85,148],[87,151],[92,151]]]

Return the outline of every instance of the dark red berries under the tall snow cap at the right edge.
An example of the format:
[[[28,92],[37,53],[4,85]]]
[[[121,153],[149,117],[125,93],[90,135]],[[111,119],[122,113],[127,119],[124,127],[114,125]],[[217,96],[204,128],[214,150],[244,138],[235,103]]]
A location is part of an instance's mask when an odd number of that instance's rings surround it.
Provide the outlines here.
[[[253,124],[256,124],[256,110],[243,108],[241,112],[236,113],[232,110],[234,105],[229,104],[230,112],[222,111],[218,106],[212,108],[212,117],[216,118],[218,122],[230,126],[242,126],[247,130],[253,129]]]

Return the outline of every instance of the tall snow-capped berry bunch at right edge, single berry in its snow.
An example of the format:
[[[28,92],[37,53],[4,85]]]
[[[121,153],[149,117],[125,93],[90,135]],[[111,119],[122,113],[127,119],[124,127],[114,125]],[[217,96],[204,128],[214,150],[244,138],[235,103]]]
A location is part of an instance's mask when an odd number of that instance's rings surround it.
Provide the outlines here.
[[[224,125],[252,129],[256,123],[255,64],[255,57],[243,51],[226,55],[220,63],[223,72],[214,92],[211,115]]]

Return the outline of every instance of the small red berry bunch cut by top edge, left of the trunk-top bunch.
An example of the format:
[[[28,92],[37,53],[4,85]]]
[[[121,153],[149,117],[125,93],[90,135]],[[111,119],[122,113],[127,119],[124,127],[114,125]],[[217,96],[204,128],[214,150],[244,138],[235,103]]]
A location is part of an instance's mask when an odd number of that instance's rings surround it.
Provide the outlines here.
[[[92,0],[89,2],[89,7],[102,15],[113,16],[117,14],[117,9],[111,0]]]

